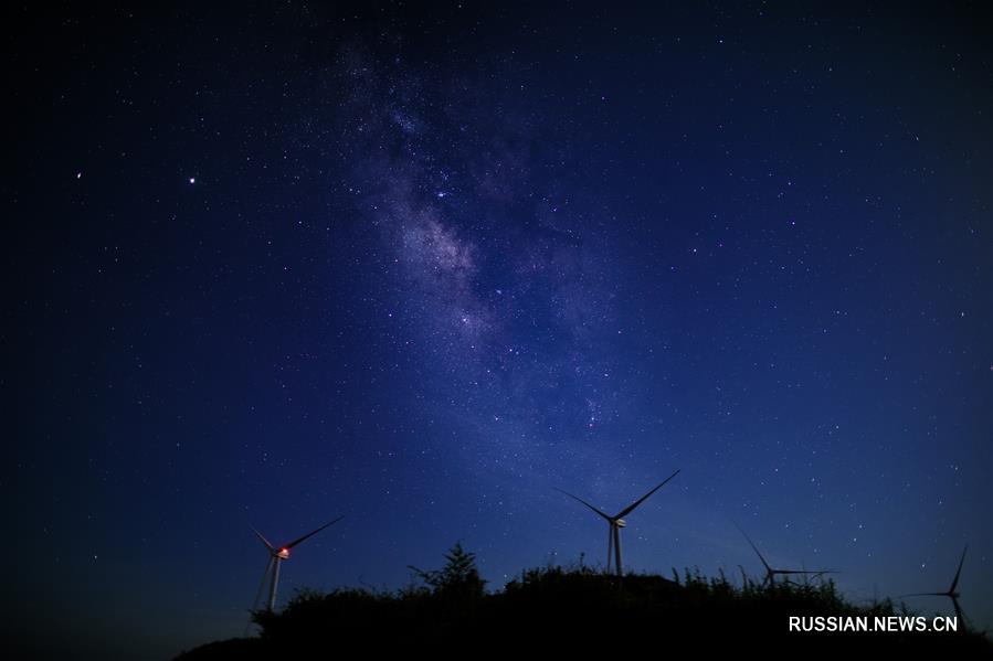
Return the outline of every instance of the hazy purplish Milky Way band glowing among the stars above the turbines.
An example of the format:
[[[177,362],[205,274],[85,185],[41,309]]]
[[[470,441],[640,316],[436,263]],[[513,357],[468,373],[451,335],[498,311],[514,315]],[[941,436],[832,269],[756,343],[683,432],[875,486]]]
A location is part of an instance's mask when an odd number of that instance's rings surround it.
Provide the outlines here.
[[[485,109],[466,107],[484,95],[478,82],[346,60],[362,72],[340,76],[360,99],[339,118],[356,136],[356,216],[392,263],[384,323],[403,327],[446,382],[433,406],[462,419],[465,459],[485,479],[592,471],[603,458],[577,457],[575,441],[615,414],[609,354],[620,331],[609,211],[595,191],[581,202],[558,192],[557,171],[579,157],[559,149],[554,162],[532,147],[561,141],[540,99],[497,93]],[[494,106],[509,116],[490,116]]]

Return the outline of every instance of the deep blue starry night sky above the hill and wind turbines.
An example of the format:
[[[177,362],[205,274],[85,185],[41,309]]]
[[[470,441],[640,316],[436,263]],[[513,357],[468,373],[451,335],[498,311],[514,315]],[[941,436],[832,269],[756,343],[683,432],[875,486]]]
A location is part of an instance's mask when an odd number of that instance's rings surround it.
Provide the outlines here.
[[[860,601],[968,542],[993,626],[982,3],[209,4],[4,21],[15,644],[240,636],[250,525],[345,515],[281,603],[603,564],[554,489],[677,469],[632,571],[758,576],[738,524]]]

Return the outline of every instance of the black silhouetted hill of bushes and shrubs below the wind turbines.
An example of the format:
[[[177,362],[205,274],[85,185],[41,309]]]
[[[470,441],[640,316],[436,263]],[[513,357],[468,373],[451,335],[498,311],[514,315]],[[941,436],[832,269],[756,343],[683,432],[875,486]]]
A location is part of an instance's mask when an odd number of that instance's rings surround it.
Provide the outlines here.
[[[659,652],[993,651],[985,637],[965,631],[790,632],[790,616],[871,620],[915,615],[888,599],[849,604],[830,579],[765,584],[742,575],[739,585],[723,573],[706,577],[687,569],[680,576],[674,569],[672,578],[631,574],[619,583],[582,564],[549,565],[527,569],[501,591],[487,594],[474,555],[461,544],[445,561],[436,571],[411,567],[421,585],[397,591],[298,590],[282,611],[253,614],[257,638],[210,643],[180,659],[262,659],[287,652],[319,658],[355,646],[473,657],[631,644]]]

